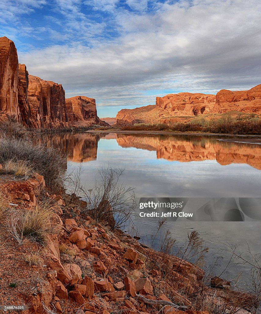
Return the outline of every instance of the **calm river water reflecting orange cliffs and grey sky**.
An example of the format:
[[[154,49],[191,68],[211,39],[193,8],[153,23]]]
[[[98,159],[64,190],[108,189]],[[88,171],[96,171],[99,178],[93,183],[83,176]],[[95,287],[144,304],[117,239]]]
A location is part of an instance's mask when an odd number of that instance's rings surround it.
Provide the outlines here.
[[[123,181],[135,187],[138,198],[261,196],[261,137],[84,132],[53,134],[49,140],[68,154],[69,172],[82,165],[86,188],[93,187],[97,167],[109,164],[125,168]],[[144,219],[136,219],[135,224],[145,244],[158,225]],[[222,251],[226,242],[238,245],[246,257],[248,245],[254,254],[260,253],[260,221],[176,221],[166,223],[162,232],[166,229],[177,239],[177,247],[188,232],[198,231],[210,248],[206,264],[222,257],[217,275],[230,258]],[[222,276],[230,279],[238,272],[248,280],[248,265],[232,260]]]

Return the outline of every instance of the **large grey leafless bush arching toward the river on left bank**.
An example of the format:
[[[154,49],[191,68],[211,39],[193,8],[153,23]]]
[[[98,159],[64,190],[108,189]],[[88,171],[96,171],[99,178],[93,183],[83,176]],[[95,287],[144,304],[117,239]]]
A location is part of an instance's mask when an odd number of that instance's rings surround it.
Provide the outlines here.
[[[0,139],[0,164],[5,164],[14,157],[24,161],[32,170],[44,176],[46,185],[57,188],[63,183],[66,170],[66,156],[53,147],[33,144],[17,138]]]

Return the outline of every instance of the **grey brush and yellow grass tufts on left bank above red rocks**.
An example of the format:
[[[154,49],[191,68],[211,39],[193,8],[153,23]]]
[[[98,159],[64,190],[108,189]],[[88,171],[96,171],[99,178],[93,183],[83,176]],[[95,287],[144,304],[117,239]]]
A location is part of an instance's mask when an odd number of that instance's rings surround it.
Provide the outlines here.
[[[53,190],[62,186],[66,170],[64,154],[44,143],[33,143],[29,133],[16,122],[0,122],[1,128],[10,131],[0,133],[1,172],[25,177],[37,172]]]

